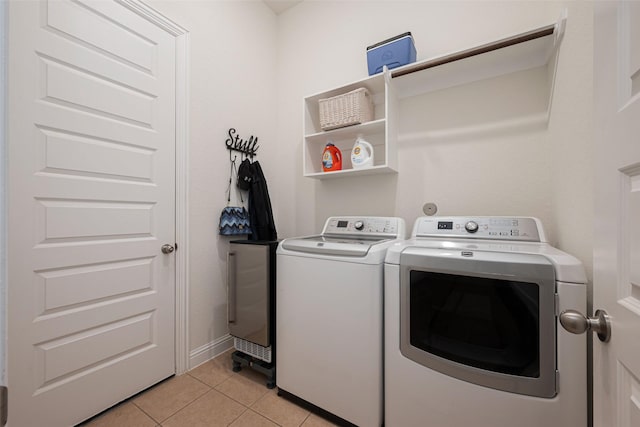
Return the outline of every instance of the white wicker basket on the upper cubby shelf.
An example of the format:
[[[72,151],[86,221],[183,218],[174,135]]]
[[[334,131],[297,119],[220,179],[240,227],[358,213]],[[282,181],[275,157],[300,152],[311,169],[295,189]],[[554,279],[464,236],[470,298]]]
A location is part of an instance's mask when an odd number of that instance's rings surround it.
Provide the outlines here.
[[[336,129],[368,122],[373,118],[373,102],[365,88],[343,95],[319,99],[320,128]]]

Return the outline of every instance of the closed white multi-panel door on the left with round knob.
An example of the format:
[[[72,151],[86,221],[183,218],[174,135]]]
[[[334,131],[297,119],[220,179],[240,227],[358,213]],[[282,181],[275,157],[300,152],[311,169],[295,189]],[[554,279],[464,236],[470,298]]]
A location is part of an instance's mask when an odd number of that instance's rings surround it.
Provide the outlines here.
[[[113,1],[9,2],[9,425],[175,372],[175,39]]]

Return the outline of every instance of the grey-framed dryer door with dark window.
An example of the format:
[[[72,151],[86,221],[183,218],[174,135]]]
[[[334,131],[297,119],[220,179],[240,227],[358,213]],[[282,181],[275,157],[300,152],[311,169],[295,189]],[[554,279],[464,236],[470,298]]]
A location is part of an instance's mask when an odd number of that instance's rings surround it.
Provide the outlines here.
[[[555,274],[549,260],[409,248],[400,271],[405,357],[485,387],[556,395]]]

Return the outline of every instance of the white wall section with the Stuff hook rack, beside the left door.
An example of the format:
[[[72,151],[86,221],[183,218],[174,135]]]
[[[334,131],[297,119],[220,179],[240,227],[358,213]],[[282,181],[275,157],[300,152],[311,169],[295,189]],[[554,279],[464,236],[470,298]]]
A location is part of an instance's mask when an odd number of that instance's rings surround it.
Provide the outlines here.
[[[226,254],[218,235],[229,180],[227,131],[258,137],[270,181],[276,151],[276,16],[261,1],[149,4],[189,31],[189,346],[191,367],[229,345]],[[238,161],[239,163],[239,161]],[[236,202],[235,192],[232,202]],[[245,200],[246,203],[246,200]]]

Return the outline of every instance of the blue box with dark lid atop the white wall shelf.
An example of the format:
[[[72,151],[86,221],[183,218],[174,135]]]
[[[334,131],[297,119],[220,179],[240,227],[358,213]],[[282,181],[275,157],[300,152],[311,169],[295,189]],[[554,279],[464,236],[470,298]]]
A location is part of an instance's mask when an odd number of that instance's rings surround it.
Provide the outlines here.
[[[416,46],[411,33],[400,34],[367,48],[370,76],[381,72],[384,65],[392,69],[412,62],[416,62]]]

